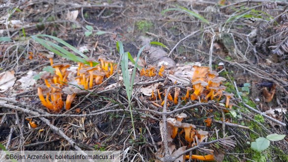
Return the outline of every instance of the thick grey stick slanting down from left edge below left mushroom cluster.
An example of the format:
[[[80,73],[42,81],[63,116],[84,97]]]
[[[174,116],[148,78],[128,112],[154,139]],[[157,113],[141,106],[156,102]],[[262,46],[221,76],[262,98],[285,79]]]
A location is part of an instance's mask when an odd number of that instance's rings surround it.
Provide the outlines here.
[[[18,111],[22,111],[22,112],[25,112],[25,113],[29,113],[29,114],[33,114],[35,116],[40,116],[39,113],[35,112],[35,111],[32,111],[32,110],[28,110],[28,109],[25,109],[25,108],[22,108],[22,107],[18,107],[18,106],[15,106],[15,105],[10,105],[10,104],[6,104],[6,103],[0,103],[0,106],[2,107],[7,107],[7,108],[11,108],[13,110],[18,110]],[[43,121],[46,125],[48,125],[53,131],[55,131],[57,134],[59,134],[60,136],[62,136],[66,141],[68,141],[70,143],[70,145],[72,147],[74,147],[77,151],[82,151],[80,147],[78,147],[76,145],[76,143],[71,139],[69,138],[62,130],[60,130],[60,128],[58,127],[55,127],[54,125],[52,125],[50,123],[50,121],[44,117],[39,117],[39,119],[41,121]],[[84,152],[83,152],[84,153]],[[84,153],[84,155],[86,155]]]

